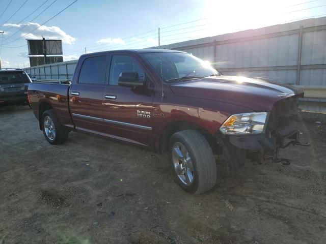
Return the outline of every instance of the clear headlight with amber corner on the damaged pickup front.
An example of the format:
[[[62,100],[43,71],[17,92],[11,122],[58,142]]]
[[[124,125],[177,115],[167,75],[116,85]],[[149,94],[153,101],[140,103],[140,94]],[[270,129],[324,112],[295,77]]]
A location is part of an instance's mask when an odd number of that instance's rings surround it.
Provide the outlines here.
[[[240,113],[231,115],[220,127],[226,135],[261,134],[265,131],[268,113]]]

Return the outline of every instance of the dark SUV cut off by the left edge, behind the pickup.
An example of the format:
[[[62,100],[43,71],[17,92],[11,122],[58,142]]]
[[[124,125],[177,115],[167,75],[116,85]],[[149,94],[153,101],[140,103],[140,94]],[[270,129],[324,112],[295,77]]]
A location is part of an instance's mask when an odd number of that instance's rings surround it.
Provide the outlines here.
[[[0,105],[28,105],[27,89],[32,83],[21,69],[0,70]]]

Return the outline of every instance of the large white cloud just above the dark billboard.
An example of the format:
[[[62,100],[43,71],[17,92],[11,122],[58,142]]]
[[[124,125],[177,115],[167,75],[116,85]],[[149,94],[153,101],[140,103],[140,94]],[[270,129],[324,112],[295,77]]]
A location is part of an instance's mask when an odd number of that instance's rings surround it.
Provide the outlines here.
[[[38,23],[26,23],[26,24],[10,24],[6,23],[4,26],[13,27],[15,29],[20,29],[21,27],[25,26],[21,30],[21,36],[26,35],[27,33],[32,32],[35,28],[39,27],[40,24]],[[36,29],[33,33],[30,33],[24,38],[26,39],[38,39],[40,37],[45,37],[49,39],[61,39],[63,43],[66,44],[73,44],[76,41],[76,38],[68,35],[65,33],[60,27],[58,26],[46,26],[42,25],[38,29]]]

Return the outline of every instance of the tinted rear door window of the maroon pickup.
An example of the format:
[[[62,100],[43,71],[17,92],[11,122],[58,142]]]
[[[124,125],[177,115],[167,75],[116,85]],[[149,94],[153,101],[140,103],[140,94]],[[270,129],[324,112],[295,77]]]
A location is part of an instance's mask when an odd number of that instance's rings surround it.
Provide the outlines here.
[[[78,83],[104,84],[106,64],[106,56],[86,58],[80,69]]]

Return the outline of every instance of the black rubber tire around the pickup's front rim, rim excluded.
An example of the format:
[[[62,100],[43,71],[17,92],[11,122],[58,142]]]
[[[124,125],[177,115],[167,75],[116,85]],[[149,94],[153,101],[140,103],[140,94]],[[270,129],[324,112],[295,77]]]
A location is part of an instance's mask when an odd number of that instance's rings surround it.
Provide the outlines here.
[[[173,159],[173,150],[175,145],[185,146],[188,156],[191,157],[193,173],[193,182],[186,185],[180,179],[175,168],[176,163]],[[181,147],[180,147],[181,148]],[[195,130],[179,131],[172,135],[169,144],[170,161],[173,174],[180,187],[192,194],[201,194],[215,186],[216,183],[216,163],[210,145],[205,137]],[[185,175],[185,174],[184,174]]]

